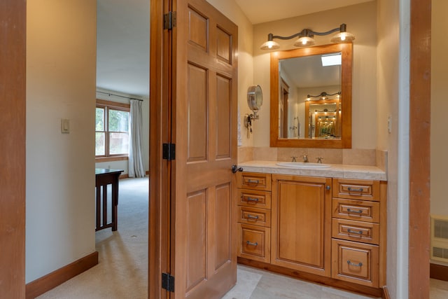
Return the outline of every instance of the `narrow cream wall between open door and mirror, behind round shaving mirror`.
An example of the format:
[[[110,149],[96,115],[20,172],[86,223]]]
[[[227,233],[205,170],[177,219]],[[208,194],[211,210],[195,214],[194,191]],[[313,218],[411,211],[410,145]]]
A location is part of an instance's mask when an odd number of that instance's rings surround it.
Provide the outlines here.
[[[244,114],[252,113],[247,106],[247,89],[250,85],[258,84],[258,82],[253,81],[253,26],[235,0],[207,0],[207,2],[238,26],[238,106],[242,130],[242,146],[253,146],[253,137],[247,138],[243,120]],[[263,90],[263,95],[265,95],[264,93],[265,90]],[[264,104],[262,109],[266,109]],[[252,127],[255,127],[257,122],[258,120],[253,122]]]

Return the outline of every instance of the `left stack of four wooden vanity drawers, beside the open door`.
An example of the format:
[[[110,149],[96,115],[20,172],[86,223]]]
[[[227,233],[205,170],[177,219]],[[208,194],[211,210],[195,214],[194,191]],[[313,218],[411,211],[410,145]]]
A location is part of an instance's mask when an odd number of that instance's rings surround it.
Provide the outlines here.
[[[237,173],[238,254],[269,263],[271,256],[271,174]]]

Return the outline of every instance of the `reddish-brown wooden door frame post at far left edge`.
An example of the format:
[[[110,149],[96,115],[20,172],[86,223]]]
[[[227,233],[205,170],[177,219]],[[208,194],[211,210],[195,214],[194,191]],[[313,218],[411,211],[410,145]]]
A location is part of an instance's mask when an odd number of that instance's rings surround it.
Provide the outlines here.
[[[25,298],[26,1],[0,2],[0,293]]]

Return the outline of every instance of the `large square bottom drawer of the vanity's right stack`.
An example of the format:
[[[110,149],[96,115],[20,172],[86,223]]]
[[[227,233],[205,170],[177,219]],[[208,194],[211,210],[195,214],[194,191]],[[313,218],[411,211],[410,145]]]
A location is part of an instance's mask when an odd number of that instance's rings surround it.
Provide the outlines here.
[[[332,239],[331,277],[378,287],[379,250],[376,245]]]

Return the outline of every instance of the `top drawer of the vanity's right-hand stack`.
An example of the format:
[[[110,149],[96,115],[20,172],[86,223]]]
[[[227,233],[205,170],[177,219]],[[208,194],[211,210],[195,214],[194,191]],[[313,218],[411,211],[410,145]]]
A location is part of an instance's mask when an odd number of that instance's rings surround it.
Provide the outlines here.
[[[333,179],[333,197],[379,201],[379,181]]]

